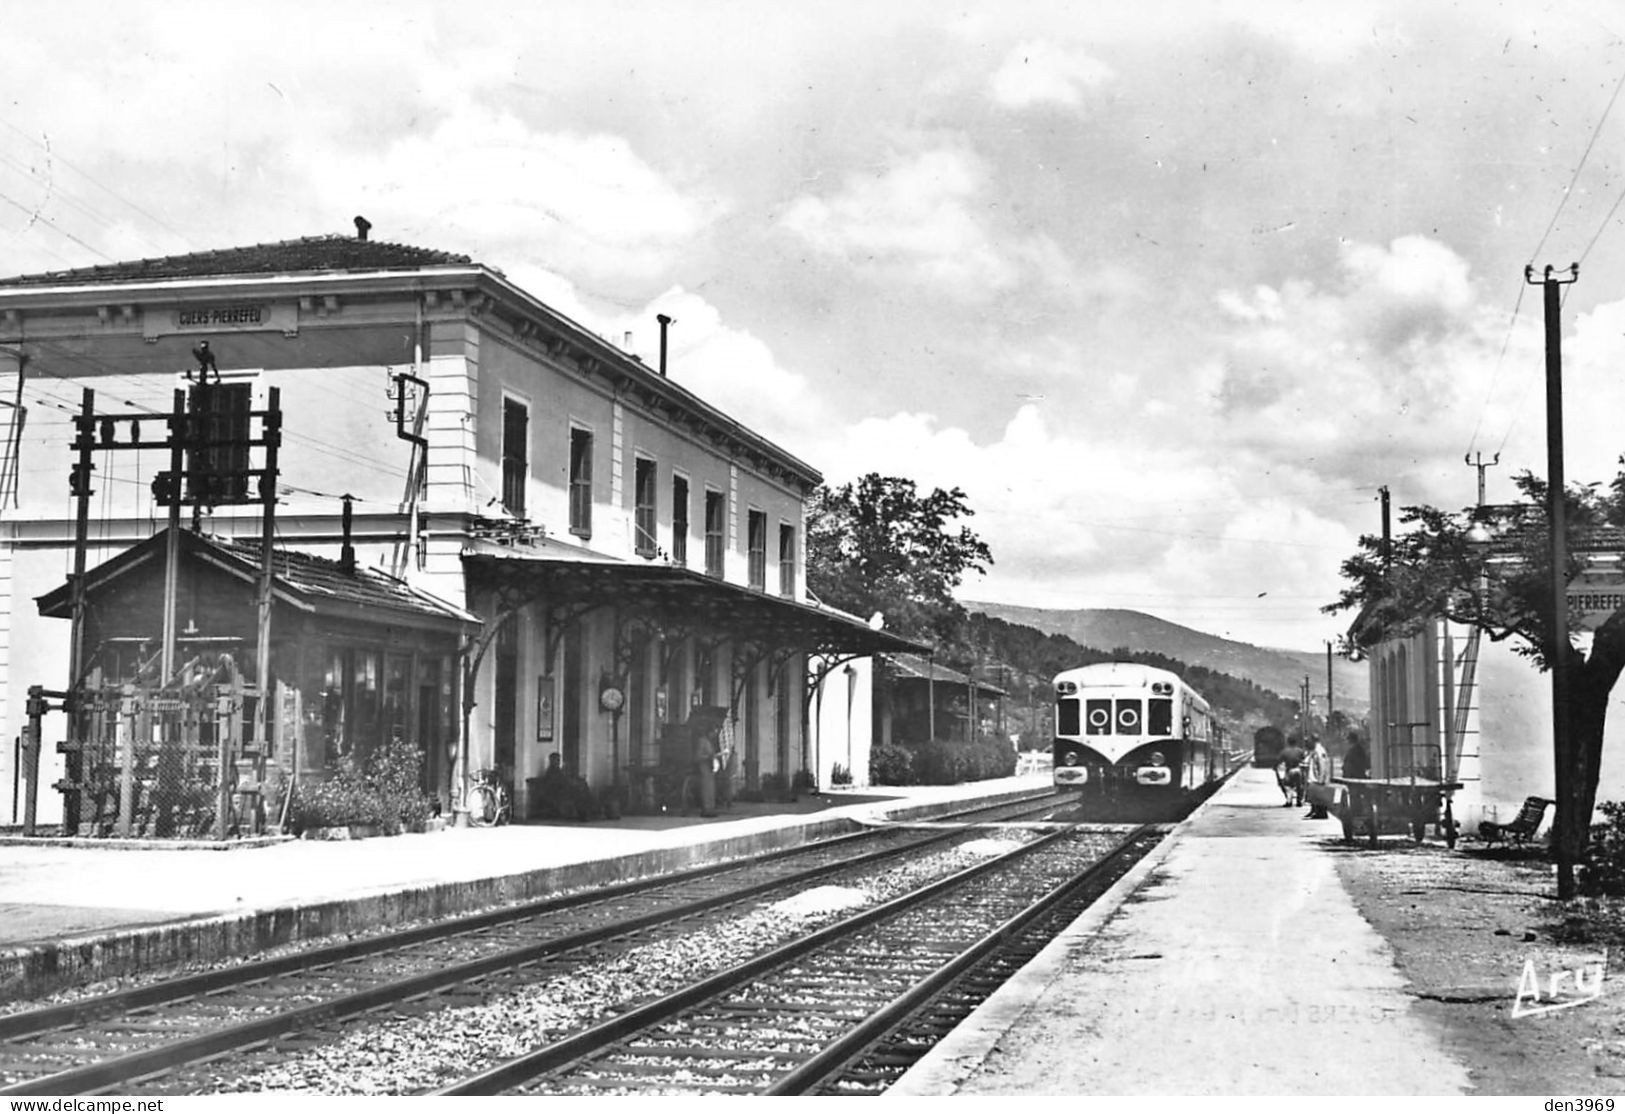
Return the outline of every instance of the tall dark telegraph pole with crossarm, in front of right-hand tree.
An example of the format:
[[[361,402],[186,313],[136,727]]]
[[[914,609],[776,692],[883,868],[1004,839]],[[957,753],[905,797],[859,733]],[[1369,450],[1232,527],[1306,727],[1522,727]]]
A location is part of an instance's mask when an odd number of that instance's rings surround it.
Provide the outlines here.
[[[1563,331],[1560,286],[1580,278],[1580,265],[1571,263],[1568,278],[1560,279],[1545,268],[1539,281],[1545,300],[1545,518],[1552,531],[1552,773],[1557,789],[1557,896],[1575,896],[1575,835],[1591,817],[1575,815],[1575,745],[1568,719],[1568,552],[1563,505]],[[1534,266],[1524,268],[1524,281],[1536,284]]]

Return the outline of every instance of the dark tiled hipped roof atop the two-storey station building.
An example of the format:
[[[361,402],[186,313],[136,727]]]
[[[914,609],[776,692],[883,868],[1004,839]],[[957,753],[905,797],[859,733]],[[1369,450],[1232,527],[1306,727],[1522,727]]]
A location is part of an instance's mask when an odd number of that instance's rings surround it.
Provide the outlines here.
[[[0,279],[15,286],[96,286],[101,283],[141,283],[185,278],[229,278],[236,274],[309,274],[320,271],[396,271],[421,266],[471,265],[466,255],[436,252],[406,244],[362,240],[354,235],[307,235],[276,244],[228,247],[188,255],[164,255],[130,263],[104,263],[72,271],[47,271]]]

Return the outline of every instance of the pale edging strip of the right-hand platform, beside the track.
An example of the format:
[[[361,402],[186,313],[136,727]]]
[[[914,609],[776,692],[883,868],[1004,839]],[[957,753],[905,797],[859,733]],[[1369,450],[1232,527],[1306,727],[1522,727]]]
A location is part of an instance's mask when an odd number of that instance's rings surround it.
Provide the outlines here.
[[[938,1098],[957,1093],[965,1080],[982,1070],[993,1049],[1016,1028],[1038,994],[1061,976],[1066,958],[1082,940],[1100,932],[1107,921],[1116,916],[1123,905],[1146,885],[1146,880],[1162,866],[1185,831],[1224,794],[1233,776],[1233,773],[1227,776],[1224,784],[1196,805],[1191,815],[1173,825],[1146,857],[1113,882],[1094,905],[990,994],[930,1052],[915,1060],[913,1067],[904,1072],[879,1098]]]

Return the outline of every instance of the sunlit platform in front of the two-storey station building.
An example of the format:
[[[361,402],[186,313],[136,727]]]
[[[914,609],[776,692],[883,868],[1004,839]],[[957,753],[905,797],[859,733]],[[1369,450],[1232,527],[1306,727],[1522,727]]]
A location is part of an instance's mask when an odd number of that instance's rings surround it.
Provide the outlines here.
[[[348,841],[0,838],[0,1002],[154,968],[744,857],[1042,792],[1035,773],[829,791],[715,818],[447,828]]]

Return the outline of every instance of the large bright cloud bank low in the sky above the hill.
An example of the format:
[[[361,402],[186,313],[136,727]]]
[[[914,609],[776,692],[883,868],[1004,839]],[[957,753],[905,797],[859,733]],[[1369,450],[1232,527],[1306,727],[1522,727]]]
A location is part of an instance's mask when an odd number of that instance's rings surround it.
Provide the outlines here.
[[[1243,617],[1240,602],[1224,609],[1217,585],[1258,585],[1246,593],[1253,633],[1269,628],[1258,591],[1310,583],[1324,599],[1336,593],[1336,555],[1352,551],[1355,531],[1305,508],[1297,495],[1308,477],[1284,471],[1274,494],[1261,494],[1258,458],[1193,466],[1199,447],[1144,435],[1157,398],[1129,399],[1112,421],[1055,421],[1046,406],[1019,406],[988,440],[920,411],[858,422],[840,432],[832,456],[847,466],[829,479],[879,471],[964,489],[977,512],[967,525],[994,557],[986,578],[962,586],[967,599],[1141,607],[1217,632]],[[1276,645],[1302,641],[1303,601],[1276,606]]]

